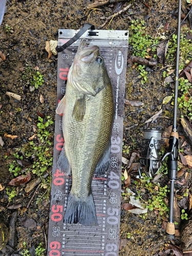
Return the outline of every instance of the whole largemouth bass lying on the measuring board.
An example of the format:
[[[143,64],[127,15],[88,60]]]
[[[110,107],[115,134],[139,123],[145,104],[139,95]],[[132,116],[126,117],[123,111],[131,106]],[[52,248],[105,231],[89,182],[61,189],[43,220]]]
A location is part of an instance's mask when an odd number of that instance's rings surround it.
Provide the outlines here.
[[[65,140],[57,161],[60,172],[72,172],[64,223],[96,226],[91,183],[94,172],[109,168],[114,119],[113,88],[98,46],[82,39],[68,73],[66,94],[58,103]]]

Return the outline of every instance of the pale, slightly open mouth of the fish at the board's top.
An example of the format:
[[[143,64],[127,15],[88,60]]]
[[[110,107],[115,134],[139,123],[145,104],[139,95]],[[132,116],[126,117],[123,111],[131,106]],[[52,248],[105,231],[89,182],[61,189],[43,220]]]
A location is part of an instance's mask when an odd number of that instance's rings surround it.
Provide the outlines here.
[[[86,39],[81,40],[78,53],[83,62],[89,62],[94,57],[95,52],[99,53],[98,46],[88,46]]]

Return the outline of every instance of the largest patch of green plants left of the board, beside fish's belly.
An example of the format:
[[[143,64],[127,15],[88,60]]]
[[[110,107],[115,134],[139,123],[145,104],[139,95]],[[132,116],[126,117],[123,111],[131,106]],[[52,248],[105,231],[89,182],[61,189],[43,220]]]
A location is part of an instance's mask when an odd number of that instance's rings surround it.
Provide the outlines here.
[[[26,175],[28,172],[32,172],[32,174],[36,175],[41,179],[40,187],[44,189],[42,193],[39,193],[37,197],[37,203],[40,203],[42,200],[48,200],[51,188],[51,176],[47,179],[42,178],[42,174],[46,172],[46,170],[52,166],[53,156],[51,154],[52,151],[52,143],[48,139],[51,133],[48,131],[49,125],[53,123],[50,116],[47,119],[38,118],[37,123],[37,136],[40,138],[39,143],[34,141],[29,141],[21,148],[15,148],[15,153],[12,155],[14,160],[11,164],[9,164],[9,171],[14,174],[14,176],[18,175]],[[35,159],[33,163],[25,169],[17,163],[16,159]],[[22,173],[21,173],[22,170]]]

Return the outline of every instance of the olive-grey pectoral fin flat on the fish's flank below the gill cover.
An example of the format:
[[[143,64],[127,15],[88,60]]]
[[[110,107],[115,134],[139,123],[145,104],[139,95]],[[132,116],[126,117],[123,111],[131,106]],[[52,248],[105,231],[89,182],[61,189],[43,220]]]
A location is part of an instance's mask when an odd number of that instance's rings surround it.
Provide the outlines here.
[[[76,98],[72,116],[77,122],[80,122],[83,120],[84,114],[86,114],[86,96],[83,94]]]

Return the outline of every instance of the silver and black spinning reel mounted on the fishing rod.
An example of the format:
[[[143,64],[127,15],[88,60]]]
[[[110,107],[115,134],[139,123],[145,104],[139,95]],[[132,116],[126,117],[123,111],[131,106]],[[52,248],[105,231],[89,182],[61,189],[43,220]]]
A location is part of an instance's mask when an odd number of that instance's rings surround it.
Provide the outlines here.
[[[148,177],[153,177],[161,168],[162,163],[166,157],[169,156],[169,162],[171,165],[173,165],[176,161],[178,155],[178,141],[173,136],[170,136],[169,138],[168,151],[165,152],[162,157],[160,156],[160,151],[164,139],[165,138],[162,137],[162,131],[160,130],[144,130],[144,138],[142,143],[144,150],[141,154],[141,158],[139,159],[140,178],[142,177],[143,166],[144,173]],[[170,167],[171,169],[175,169],[173,166]],[[175,174],[172,174],[172,177],[173,176],[175,177]]]

